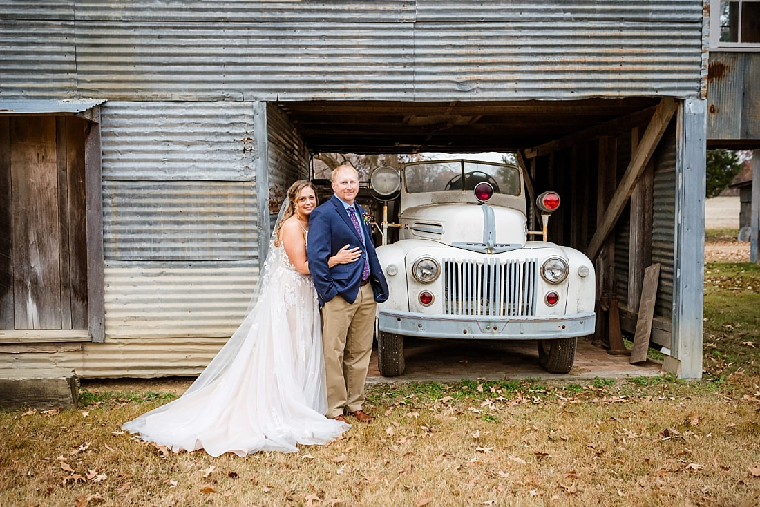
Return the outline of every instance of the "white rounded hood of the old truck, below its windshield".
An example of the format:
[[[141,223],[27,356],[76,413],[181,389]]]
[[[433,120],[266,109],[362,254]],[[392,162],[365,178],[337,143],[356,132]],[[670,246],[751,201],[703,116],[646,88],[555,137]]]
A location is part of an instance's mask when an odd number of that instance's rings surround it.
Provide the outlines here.
[[[488,204],[432,204],[401,214],[400,239],[431,239],[476,252],[508,252],[525,245],[525,215]]]

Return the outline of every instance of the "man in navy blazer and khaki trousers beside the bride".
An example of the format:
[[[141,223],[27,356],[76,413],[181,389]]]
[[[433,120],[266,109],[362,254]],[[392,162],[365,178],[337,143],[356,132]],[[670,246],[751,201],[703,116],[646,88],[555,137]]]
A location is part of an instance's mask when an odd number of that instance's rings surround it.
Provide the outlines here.
[[[388,299],[388,284],[375,254],[366,211],[355,204],[359,174],[352,166],[332,172],[335,195],[312,211],[306,257],[322,308],[322,349],[327,377],[327,417],[363,423],[374,417],[362,410],[364,382],[372,353],[376,301]],[[328,259],[342,247],[359,246],[362,256],[332,268]]]

